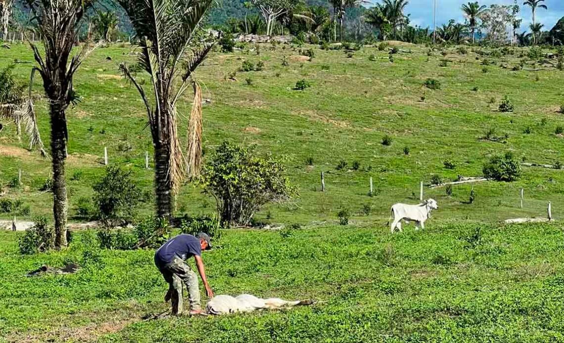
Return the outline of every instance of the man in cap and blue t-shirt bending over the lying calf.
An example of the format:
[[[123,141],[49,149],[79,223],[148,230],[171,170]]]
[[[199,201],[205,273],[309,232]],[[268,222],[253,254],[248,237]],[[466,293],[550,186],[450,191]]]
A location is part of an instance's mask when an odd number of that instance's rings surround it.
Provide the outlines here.
[[[155,265],[169,284],[165,301],[171,300],[172,314],[182,314],[182,283],[185,283],[186,288],[188,288],[190,314],[203,313],[200,304],[198,277],[186,263],[186,260],[192,256],[196,260],[198,273],[200,273],[202,282],[204,282],[206,295],[210,299],[213,298],[213,291],[211,291],[208,279],[206,279],[204,262],[201,257],[202,250],[209,249],[211,249],[209,236],[205,233],[199,233],[196,237],[188,234],[173,237],[162,244],[155,252]]]

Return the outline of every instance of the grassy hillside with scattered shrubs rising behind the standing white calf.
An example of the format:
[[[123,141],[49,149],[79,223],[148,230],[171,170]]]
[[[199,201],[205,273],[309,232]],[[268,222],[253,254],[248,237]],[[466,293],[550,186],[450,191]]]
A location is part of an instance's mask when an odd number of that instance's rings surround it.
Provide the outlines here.
[[[564,140],[554,131],[564,126],[562,114],[556,112],[564,103],[560,82],[564,72],[549,64],[532,64],[526,57],[528,49],[493,58],[475,52],[462,55],[456,48],[444,50],[446,56],[440,51],[428,56],[428,48],[409,46],[405,51],[411,53],[396,54],[390,63],[387,51],[377,48],[363,48],[349,58],[343,51],[304,47],[313,49],[312,61],[290,46],[265,44],[259,55],[255,48],[249,44],[232,54],[214,52],[198,69],[197,77],[204,97],[211,101],[204,106],[205,150],[214,149],[224,139],[256,144],[261,152],[283,155],[290,179],[298,185],[299,199],[287,206],[266,208],[259,219],[307,224],[334,220],[340,208],[349,207],[356,213],[354,220],[380,225],[391,204],[415,202],[413,193],[418,194],[419,182],[428,183],[433,175],[445,180],[457,175],[480,176],[490,155],[507,150],[527,162],[563,159]],[[15,70],[25,82],[32,61],[29,48],[16,44],[1,52],[0,66],[15,59],[23,62]],[[117,63],[134,60],[130,52],[130,47],[99,48],[74,81],[82,101],[68,114],[70,215],[78,198],[91,195],[92,182],[103,172],[104,146],[111,163],[131,168],[143,189],[152,191],[153,171],[144,170],[144,152],[152,152],[143,106],[117,70]],[[375,61],[369,60],[371,55]],[[288,66],[283,66],[284,59]],[[493,64],[482,65],[484,59]],[[230,80],[228,75],[239,69],[243,60],[263,61],[265,68],[237,72],[236,81]],[[448,60],[447,66],[439,66],[442,60]],[[526,68],[541,70],[513,71],[521,60],[526,61]],[[422,86],[427,78],[440,81],[441,89]],[[301,79],[311,87],[293,90]],[[38,81],[35,89],[41,90]],[[504,96],[514,104],[513,113],[498,112]],[[187,115],[190,107],[191,95],[187,94],[180,102],[180,113]],[[47,142],[45,104],[38,108]],[[186,132],[186,126],[184,118],[180,132]],[[490,128],[498,136],[507,133],[506,144],[480,140]],[[531,133],[525,133],[528,130]],[[30,216],[48,215],[50,194],[38,189],[49,176],[50,163],[37,152],[28,152],[27,144],[17,142],[14,131],[9,125],[0,132],[3,197],[23,199],[32,208]],[[390,146],[381,144],[385,135],[393,138]],[[409,155],[404,154],[406,146]],[[309,157],[313,166],[306,163]],[[444,167],[446,159],[455,162],[455,169]],[[348,167],[337,171],[341,160]],[[354,161],[360,163],[359,170],[352,170]],[[19,168],[24,186],[8,187]],[[321,171],[326,175],[325,193],[319,191]],[[372,198],[367,195],[370,177],[377,193]],[[465,203],[470,185],[455,186],[451,197],[443,188],[426,189],[425,197],[437,199],[438,220],[538,216],[543,215],[548,201],[553,202],[553,213],[558,217],[564,211],[563,182],[561,170],[526,168],[517,182],[476,184],[474,204]],[[520,188],[525,188],[523,210],[518,206]],[[362,215],[364,204],[373,206],[370,216]],[[152,206],[145,203],[141,213],[151,213]],[[214,207],[213,199],[202,195],[198,185],[182,188],[179,212],[205,213]]]

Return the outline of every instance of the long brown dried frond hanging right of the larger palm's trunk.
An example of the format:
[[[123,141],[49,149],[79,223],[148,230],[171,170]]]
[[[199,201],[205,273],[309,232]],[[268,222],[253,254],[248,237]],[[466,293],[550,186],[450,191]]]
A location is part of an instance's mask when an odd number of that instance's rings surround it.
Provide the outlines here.
[[[192,82],[194,88],[194,104],[190,113],[188,123],[187,144],[188,152],[186,155],[186,173],[190,179],[200,176],[202,164],[202,89],[196,82]]]

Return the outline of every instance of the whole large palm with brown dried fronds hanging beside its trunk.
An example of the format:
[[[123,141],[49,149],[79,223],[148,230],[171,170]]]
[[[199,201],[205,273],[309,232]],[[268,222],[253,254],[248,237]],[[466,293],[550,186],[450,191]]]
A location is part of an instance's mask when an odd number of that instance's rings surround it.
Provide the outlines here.
[[[168,219],[180,182],[197,176],[201,163],[201,89],[193,73],[213,43],[199,44],[197,31],[213,0],[117,0],[140,37],[138,64],[151,78],[152,101],[125,63],[124,76],[137,88],[148,116],[155,148],[157,216]],[[199,45],[199,46],[198,46]],[[188,124],[187,156],[178,135],[177,102],[192,85],[195,98]]]

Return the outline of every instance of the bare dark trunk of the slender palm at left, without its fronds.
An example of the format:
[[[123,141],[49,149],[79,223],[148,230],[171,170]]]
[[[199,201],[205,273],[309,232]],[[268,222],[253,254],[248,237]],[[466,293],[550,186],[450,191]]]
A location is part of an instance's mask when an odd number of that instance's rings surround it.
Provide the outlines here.
[[[67,246],[67,184],[65,182],[65,158],[67,157],[67,121],[65,106],[52,101],[51,155],[53,168],[53,215],[55,217],[55,248]]]

